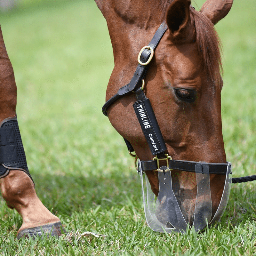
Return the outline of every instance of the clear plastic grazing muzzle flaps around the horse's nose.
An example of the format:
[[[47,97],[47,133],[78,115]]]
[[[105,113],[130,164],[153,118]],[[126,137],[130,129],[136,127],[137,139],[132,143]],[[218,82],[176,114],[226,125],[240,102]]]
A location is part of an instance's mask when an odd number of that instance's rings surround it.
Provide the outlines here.
[[[143,175],[144,173],[141,171],[140,161],[138,166],[148,226],[158,232],[184,232],[188,223],[183,217],[178,201],[172,190],[172,174],[170,169],[166,166],[162,166],[158,169],[159,193],[156,197],[151,190],[147,175]],[[223,215],[228,203],[232,183],[232,165],[228,163],[222,197],[219,207],[212,219],[212,200],[208,164],[198,162],[195,166],[195,172],[197,195],[193,226],[195,230],[198,231],[206,227],[206,222],[209,224],[214,223]]]

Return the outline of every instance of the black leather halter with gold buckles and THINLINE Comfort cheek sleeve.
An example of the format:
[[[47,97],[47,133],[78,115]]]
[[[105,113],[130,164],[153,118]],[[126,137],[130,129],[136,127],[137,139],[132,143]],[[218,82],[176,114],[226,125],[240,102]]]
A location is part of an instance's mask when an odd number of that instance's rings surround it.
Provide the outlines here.
[[[121,98],[127,93],[134,92],[138,100],[133,105],[135,113],[138,117],[141,129],[151,149],[151,153],[152,155],[156,155],[156,157],[154,157],[154,160],[141,161],[141,170],[143,172],[157,170],[160,167],[160,162],[164,162],[164,165],[167,166],[169,169],[186,172],[196,172],[195,166],[198,162],[172,160],[170,156],[164,154],[164,151],[166,151],[167,149],[164,143],[163,135],[158,126],[150,101],[140,87],[141,84],[143,84],[144,82],[143,78],[147,73],[148,64],[153,57],[154,50],[156,49],[167,28],[167,25],[165,23],[162,23],[161,26],[157,29],[150,43],[141,49],[138,57],[139,64],[135,70],[134,75],[132,76],[130,83],[121,87],[118,92],[104,104],[104,106],[102,107],[102,112],[105,116],[107,116],[107,108],[113,102],[115,102],[117,99]],[[148,131],[148,129],[145,129],[145,127],[148,128],[149,126],[151,129],[149,129]],[[133,152],[134,149],[132,148],[131,143],[126,139],[124,140],[129,152]],[[209,173],[225,175],[227,173],[228,163],[208,163],[208,165]]]

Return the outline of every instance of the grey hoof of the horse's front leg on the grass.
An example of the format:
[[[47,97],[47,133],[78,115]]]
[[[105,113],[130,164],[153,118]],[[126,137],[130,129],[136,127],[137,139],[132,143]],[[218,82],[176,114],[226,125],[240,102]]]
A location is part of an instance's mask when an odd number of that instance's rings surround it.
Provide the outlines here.
[[[20,230],[18,233],[17,238],[20,239],[21,237],[33,238],[35,236],[42,236],[42,231],[45,236],[49,238],[49,236],[60,237],[62,234],[67,233],[65,228],[62,227],[61,222],[55,222],[51,224],[46,224],[42,226],[38,226],[35,228],[28,228]]]

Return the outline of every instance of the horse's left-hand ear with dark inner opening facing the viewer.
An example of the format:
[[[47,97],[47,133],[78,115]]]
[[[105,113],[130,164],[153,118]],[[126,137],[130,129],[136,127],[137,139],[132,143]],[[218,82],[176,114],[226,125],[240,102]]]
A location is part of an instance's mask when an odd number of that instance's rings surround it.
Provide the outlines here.
[[[188,25],[190,25],[190,0],[175,0],[166,12],[166,24],[171,35],[175,39],[187,36]]]

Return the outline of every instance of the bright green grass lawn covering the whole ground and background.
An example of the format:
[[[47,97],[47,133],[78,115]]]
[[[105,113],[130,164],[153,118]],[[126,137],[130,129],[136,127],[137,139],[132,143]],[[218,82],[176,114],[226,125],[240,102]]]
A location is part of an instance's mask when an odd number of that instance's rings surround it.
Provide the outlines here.
[[[224,49],[223,136],[234,177],[256,173],[253,4],[235,1],[216,26]],[[233,185],[220,223],[203,233],[160,234],[145,224],[133,159],[101,113],[113,55],[93,1],[23,0],[0,13],[0,23],[37,194],[73,234],[17,241],[22,220],[1,199],[1,255],[256,255],[255,182]],[[86,231],[106,237],[78,239]]]

